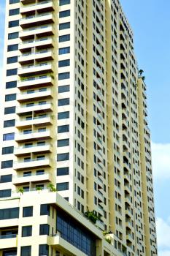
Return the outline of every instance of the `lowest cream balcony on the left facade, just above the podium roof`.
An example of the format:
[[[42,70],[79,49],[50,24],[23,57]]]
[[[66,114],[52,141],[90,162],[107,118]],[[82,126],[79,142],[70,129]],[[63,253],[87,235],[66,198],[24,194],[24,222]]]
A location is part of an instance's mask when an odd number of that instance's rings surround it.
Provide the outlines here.
[[[31,175],[31,176],[13,176],[12,184],[15,186],[29,184],[30,182],[50,182],[52,181],[50,173],[43,173],[41,175]]]

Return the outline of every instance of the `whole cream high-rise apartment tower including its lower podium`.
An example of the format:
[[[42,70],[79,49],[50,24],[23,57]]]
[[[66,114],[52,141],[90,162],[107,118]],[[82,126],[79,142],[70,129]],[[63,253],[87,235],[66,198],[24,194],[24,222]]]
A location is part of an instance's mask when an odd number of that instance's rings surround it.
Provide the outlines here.
[[[119,1],[6,10],[0,256],[157,255],[146,85]]]

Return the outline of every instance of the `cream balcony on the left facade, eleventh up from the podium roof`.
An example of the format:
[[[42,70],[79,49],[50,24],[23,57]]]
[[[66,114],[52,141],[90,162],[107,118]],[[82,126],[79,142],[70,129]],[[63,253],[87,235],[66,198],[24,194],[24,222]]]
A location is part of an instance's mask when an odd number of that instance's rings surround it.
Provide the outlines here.
[[[36,48],[36,50],[39,49],[47,49],[47,48],[53,48],[54,42],[52,37],[42,37],[40,39],[30,39],[27,41],[20,42],[19,44],[19,50],[20,52],[24,53],[28,50],[31,50],[31,48]]]

